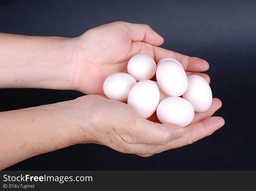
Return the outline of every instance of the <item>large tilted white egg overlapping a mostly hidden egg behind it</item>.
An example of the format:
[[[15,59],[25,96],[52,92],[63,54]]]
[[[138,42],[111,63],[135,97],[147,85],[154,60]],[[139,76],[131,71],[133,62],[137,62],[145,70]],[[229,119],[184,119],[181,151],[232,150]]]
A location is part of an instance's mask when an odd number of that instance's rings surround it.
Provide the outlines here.
[[[181,96],[186,91],[188,79],[184,69],[178,63],[163,61],[157,68],[157,82],[169,96]]]

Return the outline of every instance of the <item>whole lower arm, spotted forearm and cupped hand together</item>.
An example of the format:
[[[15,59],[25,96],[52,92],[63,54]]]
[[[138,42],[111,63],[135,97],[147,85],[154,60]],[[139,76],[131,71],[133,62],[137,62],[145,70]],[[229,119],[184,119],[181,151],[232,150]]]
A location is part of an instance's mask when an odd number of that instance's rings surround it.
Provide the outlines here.
[[[214,98],[210,109],[195,113],[184,128],[154,123],[154,115],[152,121],[144,119],[131,106],[103,95],[0,112],[0,170],[77,143],[98,143],[148,157],[213,133],[224,124],[221,117],[210,117],[220,107],[221,101]]]

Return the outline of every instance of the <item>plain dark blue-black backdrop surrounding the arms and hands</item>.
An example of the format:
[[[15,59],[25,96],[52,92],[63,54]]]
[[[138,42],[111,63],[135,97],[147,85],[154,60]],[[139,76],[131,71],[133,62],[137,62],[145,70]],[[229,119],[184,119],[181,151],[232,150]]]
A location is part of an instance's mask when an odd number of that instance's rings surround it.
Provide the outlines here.
[[[225,125],[211,136],[149,158],[81,144],[32,157],[6,170],[256,170],[256,1],[0,2],[0,32],[5,33],[76,37],[118,20],[149,24],[164,37],[161,47],[209,62],[206,73],[213,96],[223,102],[215,115],[225,119]],[[83,94],[2,89],[0,95],[0,111],[6,111]]]

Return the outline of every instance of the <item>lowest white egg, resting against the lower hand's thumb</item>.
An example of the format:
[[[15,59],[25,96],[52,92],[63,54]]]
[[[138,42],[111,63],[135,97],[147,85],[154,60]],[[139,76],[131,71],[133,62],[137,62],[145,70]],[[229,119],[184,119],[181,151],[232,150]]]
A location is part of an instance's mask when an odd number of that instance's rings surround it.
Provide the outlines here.
[[[175,123],[185,127],[195,115],[193,106],[181,97],[168,97],[157,107],[157,118],[161,123]]]

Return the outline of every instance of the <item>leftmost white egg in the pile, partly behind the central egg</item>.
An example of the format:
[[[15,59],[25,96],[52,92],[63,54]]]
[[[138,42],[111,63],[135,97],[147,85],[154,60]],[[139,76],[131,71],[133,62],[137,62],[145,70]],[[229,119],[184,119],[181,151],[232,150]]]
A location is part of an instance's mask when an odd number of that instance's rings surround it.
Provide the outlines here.
[[[106,78],[103,91],[109,99],[116,101],[127,101],[131,88],[137,81],[127,73],[114,73]]]

